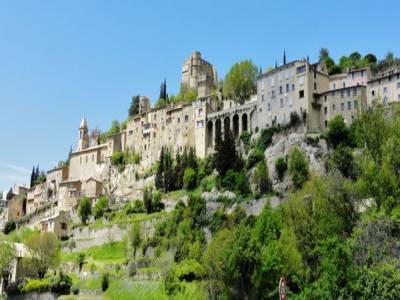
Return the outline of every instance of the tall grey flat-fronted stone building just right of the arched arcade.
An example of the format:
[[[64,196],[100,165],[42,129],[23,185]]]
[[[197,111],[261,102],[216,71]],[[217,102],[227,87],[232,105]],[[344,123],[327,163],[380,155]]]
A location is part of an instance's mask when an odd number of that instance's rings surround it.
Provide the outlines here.
[[[304,116],[308,129],[320,126],[318,94],[329,88],[323,63],[295,60],[261,74],[257,80],[258,127],[289,123],[290,114]]]

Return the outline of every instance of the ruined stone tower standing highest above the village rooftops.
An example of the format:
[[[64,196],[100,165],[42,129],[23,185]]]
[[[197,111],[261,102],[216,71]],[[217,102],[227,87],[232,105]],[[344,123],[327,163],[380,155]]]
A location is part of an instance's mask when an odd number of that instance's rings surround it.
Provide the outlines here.
[[[217,72],[212,64],[201,58],[199,51],[193,52],[182,65],[182,88],[195,90],[197,97],[208,96],[217,85]]]

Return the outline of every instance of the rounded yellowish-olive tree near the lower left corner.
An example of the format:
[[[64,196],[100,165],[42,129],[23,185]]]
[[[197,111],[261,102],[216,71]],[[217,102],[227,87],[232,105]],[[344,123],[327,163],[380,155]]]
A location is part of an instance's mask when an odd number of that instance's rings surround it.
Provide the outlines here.
[[[39,278],[44,278],[49,268],[56,268],[59,265],[60,243],[54,233],[35,233],[27,239],[26,246]]]

